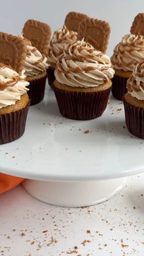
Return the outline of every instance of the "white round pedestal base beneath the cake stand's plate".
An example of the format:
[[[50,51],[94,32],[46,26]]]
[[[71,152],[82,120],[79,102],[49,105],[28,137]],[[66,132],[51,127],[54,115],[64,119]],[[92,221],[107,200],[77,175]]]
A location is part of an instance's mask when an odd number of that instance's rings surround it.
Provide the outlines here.
[[[61,207],[84,207],[104,202],[117,194],[126,178],[53,182],[25,180],[23,187],[36,199]]]

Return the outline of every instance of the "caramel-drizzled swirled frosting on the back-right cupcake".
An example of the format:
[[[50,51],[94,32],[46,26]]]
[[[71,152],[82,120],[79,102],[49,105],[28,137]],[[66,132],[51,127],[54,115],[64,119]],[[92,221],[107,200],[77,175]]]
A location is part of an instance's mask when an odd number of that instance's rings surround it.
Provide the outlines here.
[[[115,46],[111,58],[112,65],[118,70],[132,71],[137,62],[144,59],[144,36],[124,35]]]

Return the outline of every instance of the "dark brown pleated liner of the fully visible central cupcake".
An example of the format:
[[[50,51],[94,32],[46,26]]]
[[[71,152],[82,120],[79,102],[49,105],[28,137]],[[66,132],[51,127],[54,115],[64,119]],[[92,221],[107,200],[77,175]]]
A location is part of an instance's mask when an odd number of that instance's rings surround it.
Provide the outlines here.
[[[90,120],[100,117],[107,107],[110,89],[101,92],[68,92],[53,86],[63,117]]]

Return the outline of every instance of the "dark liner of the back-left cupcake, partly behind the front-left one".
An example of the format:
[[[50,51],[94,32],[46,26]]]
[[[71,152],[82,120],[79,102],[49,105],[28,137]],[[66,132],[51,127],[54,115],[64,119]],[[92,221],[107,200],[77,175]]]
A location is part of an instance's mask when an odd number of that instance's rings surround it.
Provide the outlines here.
[[[46,76],[29,81],[29,90],[27,94],[31,99],[31,106],[40,103],[45,95]]]

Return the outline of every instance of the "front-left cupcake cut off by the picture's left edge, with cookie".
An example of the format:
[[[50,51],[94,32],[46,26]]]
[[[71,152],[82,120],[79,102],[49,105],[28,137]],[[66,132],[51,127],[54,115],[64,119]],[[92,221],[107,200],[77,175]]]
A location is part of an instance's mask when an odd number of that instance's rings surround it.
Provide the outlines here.
[[[26,45],[2,32],[0,44],[0,144],[5,144],[23,135],[30,102],[23,70]]]

